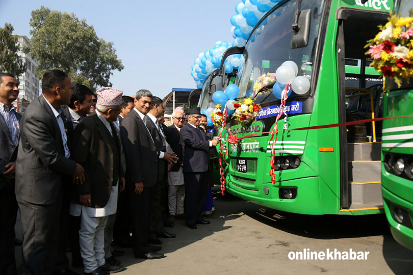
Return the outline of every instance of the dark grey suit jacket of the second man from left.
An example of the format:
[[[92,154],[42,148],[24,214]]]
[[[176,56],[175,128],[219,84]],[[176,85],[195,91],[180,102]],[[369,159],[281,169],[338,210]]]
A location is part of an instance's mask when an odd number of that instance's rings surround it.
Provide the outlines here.
[[[65,157],[56,117],[39,96],[20,120],[16,196],[33,204],[52,204],[62,193],[62,179],[73,176],[75,169],[76,162]]]

